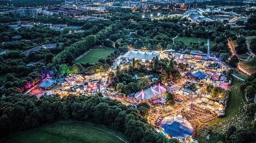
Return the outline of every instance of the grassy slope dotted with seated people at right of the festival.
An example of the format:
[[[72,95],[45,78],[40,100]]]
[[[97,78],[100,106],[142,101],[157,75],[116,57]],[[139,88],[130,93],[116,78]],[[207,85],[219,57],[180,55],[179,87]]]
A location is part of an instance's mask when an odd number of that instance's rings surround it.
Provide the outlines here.
[[[223,130],[227,130],[229,124],[233,124],[235,127],[239,128],[254,119],[252,115],[247,115],[244,113],[243,106],[246,100],[244,98],[244,93],[241,92],[239,88],[242,83],[242,81],[237,80],[232,76],[232,85],[229,87],[229,101],[225,110],[224,117],[214,119],[210,123],[208,122],[198,124],[197,138],[199,139],[200,143],[217,143],[218,141],[224,142],[224,138],[222,138],[220,133],[223,133]],[[241,121],[241,119],[244,119],[244,121]],[[215,127],[215,129],[212,129],[212,133],[209,133],[209,140],[206,139],[206,129],[200,131],[200,126],[205,124]]]

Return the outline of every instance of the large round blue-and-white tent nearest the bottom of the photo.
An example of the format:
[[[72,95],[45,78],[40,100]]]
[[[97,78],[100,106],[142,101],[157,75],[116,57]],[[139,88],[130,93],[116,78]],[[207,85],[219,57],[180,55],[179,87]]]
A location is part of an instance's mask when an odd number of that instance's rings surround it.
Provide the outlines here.
[[[193,131],[187,120],[176,116],[165,117],[161,122],[161,128],[165,133],[177,138],[188,137]]]

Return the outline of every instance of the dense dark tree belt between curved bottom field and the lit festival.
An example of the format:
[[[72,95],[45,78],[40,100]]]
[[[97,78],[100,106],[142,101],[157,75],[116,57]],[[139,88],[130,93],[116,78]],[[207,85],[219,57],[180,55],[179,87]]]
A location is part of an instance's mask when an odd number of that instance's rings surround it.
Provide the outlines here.
[[[149,106],[126,106],[119,101],[99,96],[41,97],[11,94],[0,99],[1,137],[10,133],[36,128],[58,120],[80,120],[102,124],[120,131],[130,142],[178,143],[156,134],[147,123]]]

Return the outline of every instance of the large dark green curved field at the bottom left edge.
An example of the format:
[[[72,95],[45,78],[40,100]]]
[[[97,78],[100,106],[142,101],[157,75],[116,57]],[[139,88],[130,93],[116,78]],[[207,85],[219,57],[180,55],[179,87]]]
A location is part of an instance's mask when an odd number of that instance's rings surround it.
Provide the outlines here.
[[[1,141],[36,143],[122,143],[123,135],[118,132],[88,122],[61,121],[33,130],[16,133]]]

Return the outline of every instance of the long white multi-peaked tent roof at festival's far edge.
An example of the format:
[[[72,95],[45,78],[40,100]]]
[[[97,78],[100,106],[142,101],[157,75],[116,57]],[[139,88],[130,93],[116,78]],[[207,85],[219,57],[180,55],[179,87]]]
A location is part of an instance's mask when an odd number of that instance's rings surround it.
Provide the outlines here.
[[[153,57],[158,56],[159,59],[168,58],[167,54],[164,54],[162,51],[135,51],[131,49],[130,51],[126,52],[123,56],[123,58],[136,58],[136,59],[145,59],[145,60],[151,60]]]

